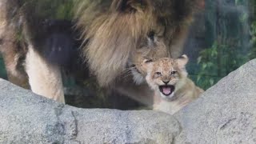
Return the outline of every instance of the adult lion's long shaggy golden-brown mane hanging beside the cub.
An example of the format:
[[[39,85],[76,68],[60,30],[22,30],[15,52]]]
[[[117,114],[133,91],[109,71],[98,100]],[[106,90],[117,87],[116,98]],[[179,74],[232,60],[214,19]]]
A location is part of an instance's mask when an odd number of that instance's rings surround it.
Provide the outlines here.
[[[200,0],[78,0],[76,27],[82,31],[82,54],[101,86],[114,82],[136,56],[150,31],[163,27],[165,48],[186,35]],[[183,38],[184,39],[184,38]],[[176,46],[182,50],[182,46]],[[132,61],[131,63],[136,63]]]

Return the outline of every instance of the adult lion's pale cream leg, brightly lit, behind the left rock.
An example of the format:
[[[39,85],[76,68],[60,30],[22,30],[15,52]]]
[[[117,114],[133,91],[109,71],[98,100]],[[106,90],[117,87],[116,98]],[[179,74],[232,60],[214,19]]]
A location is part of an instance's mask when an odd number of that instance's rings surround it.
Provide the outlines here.
[[[31,90],[52,98],[58,102],[65,102],[62,86],[62,74],[59,66],[46,62],[33,48],[28,46],[26,55],[26,73],[29,77]]]

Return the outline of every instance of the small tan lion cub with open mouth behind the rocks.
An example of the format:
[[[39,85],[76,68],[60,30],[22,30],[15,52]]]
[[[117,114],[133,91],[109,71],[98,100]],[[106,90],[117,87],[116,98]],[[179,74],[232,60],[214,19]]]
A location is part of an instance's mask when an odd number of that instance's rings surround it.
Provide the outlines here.
[[[187,62],[185,54],[178,59],[161,58],[156,62],[144,62],[146,82],[155,93],[154,110],[174,114],[204,92],[187,78]]]

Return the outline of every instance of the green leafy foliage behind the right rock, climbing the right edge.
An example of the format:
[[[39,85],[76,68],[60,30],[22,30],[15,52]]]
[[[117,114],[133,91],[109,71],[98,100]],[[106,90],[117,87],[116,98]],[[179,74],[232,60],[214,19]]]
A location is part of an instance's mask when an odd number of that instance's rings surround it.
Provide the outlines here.
[[[206,90],[245,62],[256,58],[256,19],[250,26],[250,50],[242,53],[243,48],[239,39],[229,39],[216,41],[210,48],[202,50],[198,57],[197,85]]]

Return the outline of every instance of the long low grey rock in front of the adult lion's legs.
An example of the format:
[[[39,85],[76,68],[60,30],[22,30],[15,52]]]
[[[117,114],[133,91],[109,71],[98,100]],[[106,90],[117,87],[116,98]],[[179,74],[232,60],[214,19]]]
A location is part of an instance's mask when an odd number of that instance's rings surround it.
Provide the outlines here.
[[[171,143],[180,133],[168,114],[79,109],[0,80],[0,143]]]

